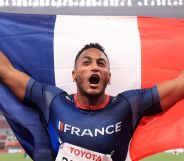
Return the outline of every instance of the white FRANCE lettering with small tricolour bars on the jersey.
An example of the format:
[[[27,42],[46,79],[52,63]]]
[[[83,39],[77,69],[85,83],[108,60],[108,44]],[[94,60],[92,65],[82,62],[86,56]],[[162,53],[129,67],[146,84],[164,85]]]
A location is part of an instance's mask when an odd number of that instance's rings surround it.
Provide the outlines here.
[[[94,129],[80,129],[79,127],[72,126],[70,124],[63,123],[59,121],[58,129],[64,133],[69,133],[77,136],[89,136],[97,137],[102,135],[111,135],[122,130],[122,122],[117,122],[115,124],[110,124],[100,128]]]

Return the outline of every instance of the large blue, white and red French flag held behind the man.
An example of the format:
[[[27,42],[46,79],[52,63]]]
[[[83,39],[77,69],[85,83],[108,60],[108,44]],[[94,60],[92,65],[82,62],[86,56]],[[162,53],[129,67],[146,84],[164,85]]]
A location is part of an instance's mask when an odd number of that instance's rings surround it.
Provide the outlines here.
[[[34,79],[75,93],[71,73],[77,52],[90,42],[110,59],[107,93],[150,87],[184,69],[184,20],[152,17],[0,14],[0,50]],[[0,110],[35,161],[52,161],[40,111],[18,101],[0,84]],[[184,147],[184,102],[144,117],[130,144],[131,160]]]

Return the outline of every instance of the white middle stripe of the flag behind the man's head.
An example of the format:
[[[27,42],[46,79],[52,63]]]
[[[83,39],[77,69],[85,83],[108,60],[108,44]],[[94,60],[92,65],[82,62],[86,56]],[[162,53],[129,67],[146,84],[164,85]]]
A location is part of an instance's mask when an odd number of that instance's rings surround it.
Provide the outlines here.
[[[104,46],[111,65],[107,93],[141,87],[141,46],[137,17],[57,16],[54,31],[56,85],[75,93],[72,70],[77,52],[87,43]],[[126,161],[130,160],[128,154]]]

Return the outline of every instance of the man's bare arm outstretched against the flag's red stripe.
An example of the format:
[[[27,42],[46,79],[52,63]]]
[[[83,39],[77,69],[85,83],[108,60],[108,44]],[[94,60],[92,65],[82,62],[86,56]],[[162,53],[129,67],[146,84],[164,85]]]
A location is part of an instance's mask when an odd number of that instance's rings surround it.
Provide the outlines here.
[[[161,108],[166,111],[184,98],[184,71],[177,78],[160,83],[157,87]]]

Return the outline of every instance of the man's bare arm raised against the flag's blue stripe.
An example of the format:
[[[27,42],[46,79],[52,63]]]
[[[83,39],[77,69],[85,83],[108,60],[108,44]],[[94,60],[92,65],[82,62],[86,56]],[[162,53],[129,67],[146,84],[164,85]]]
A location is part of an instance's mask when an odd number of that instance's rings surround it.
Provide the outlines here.
[[[30,77],[16,70],[9,59],[0,51],[0,81],[20,99],[24,99],[26,86]]]

